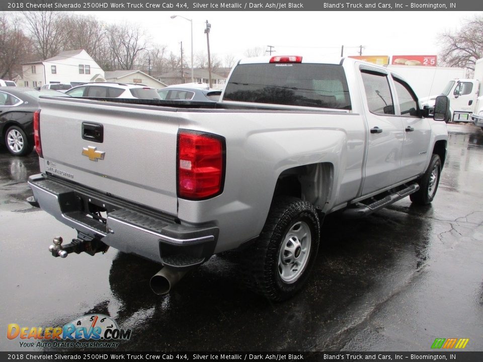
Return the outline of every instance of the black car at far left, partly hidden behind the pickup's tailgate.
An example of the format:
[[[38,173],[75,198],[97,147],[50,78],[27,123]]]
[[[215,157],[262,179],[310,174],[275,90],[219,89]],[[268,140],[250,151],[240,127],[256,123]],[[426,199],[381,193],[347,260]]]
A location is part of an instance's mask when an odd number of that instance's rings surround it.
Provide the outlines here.
[[[49,89],[0,87],[0,144],[15,156],[25,156],[34,148],[34,112],[40,96],[69,97]]]

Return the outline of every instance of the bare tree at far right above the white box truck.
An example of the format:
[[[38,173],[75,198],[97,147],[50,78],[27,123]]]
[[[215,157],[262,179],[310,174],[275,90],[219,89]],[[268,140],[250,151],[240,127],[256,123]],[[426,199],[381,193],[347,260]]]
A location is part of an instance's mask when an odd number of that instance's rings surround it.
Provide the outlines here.
[[[440,35],[440,58],[447,66],[474,70],[476,59],[483,56],[483,16],[466,20],[456,32]]]

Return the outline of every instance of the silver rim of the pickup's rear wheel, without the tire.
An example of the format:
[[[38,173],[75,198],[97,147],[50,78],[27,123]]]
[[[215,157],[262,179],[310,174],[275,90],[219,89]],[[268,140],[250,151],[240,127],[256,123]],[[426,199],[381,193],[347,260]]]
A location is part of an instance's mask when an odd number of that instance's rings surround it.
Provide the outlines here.
[[[302,275],[311,244],[312,233],[305,222],[298,221],[287,231],[278,257],[278,272],[285,283],[294,283]]]

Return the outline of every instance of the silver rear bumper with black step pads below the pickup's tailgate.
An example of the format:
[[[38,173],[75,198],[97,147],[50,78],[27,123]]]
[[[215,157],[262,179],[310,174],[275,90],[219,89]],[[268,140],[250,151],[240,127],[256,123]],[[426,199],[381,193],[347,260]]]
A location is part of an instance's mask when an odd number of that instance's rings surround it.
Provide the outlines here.
[[[218,239],[219,230],[213,225],[182,225],[173,216],[45,174],[30,176],[29,186],[40,208],[60,222],[165,266],[203,263],[213,254]],[[89,216],[93,211],[105,212],[104,220]]]

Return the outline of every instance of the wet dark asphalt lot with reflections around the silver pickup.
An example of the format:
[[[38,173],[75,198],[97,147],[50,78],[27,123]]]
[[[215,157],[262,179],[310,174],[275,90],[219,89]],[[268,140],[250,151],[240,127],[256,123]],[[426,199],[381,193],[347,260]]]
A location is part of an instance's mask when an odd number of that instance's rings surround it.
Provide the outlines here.
[[[361,220],[327,217],[307,288],[280,304],[244,290],[229,257],[212,257],[166,296],[149,289],[157,264],[115,249],[52,257],[52,237],[76,233],[24,201],[36,155],[2,148],[0,350],[42,350],[7,339],[10,323],[100,313],[132,329],[121,351],[430,351],[435,338],[469,338],[465,350],[482,351],[483,131],[448,130],[432,205],[406,198]]]

